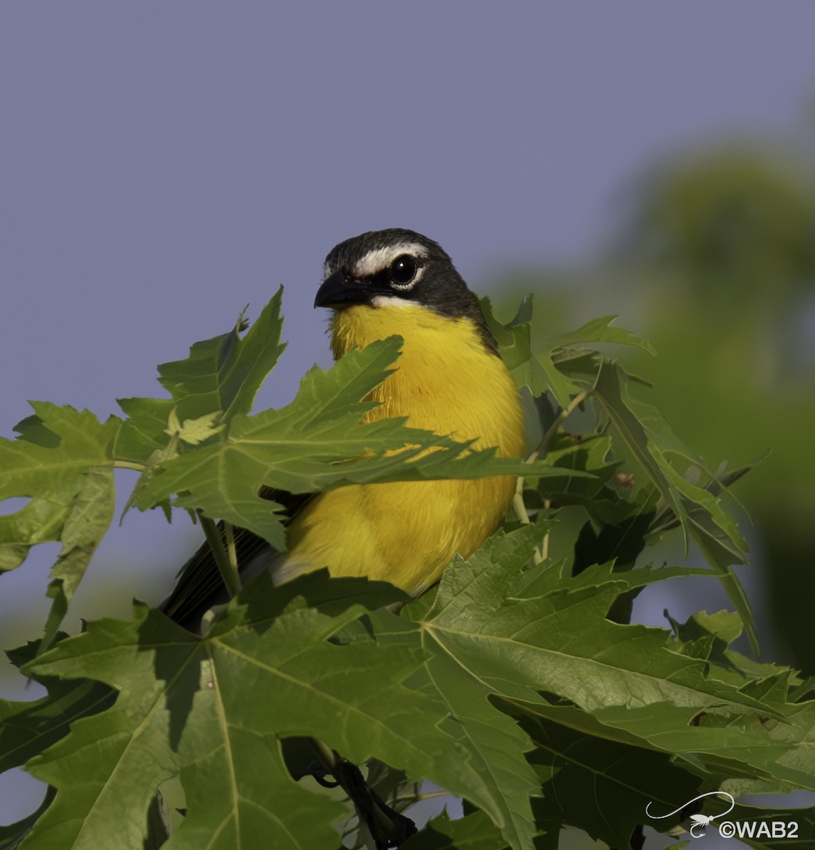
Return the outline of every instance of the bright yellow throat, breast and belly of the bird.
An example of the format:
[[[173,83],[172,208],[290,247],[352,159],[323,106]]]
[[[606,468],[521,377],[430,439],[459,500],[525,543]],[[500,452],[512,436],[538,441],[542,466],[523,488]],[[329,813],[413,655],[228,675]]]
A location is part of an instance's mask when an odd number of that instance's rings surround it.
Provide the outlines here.
[[[407,416],[414,428],[522,455],[516,384],[470,320],[411,304],[350,307],[333,319],[334,356],[394,334],[404,339],[402,356],[374,391],[381,404],[369,420]],[[439,578],[454,553],[467,558],[481,546],[509,509],[515,484],[502,476],[329,490],[290,524],[289,554],[277,578],[328,567],[332,575],[368,575],[418,593]]]

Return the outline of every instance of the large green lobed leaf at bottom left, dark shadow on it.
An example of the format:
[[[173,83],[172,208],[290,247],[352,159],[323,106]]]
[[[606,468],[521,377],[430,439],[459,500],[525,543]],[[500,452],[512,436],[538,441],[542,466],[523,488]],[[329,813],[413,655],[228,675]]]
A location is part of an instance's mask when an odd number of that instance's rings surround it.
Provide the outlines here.
[[[306,579],[298,586],[328,581]],[[91,623],[26,666],[120,691],[115,706],[73,723],[28,765],[60,791],[29,847],[140,847],[152,794],[179,771],[187,815],[170,847],[200,847],[202,836],[212,847],[331,846],[339,808],[288,775],[279,742],[292,735],[318,736],[356,762],[377,757],[454,793],[477,791],[467,751],[444,728],[445,706],[404,685],[423,663],[418,634],[384,646],[333,643],[365,609],[340,598],[332,617],[304,607],[294,585],[281,594],[261,584],[249,609],[233,604],[207,638],[137,608],[134,622]]]

